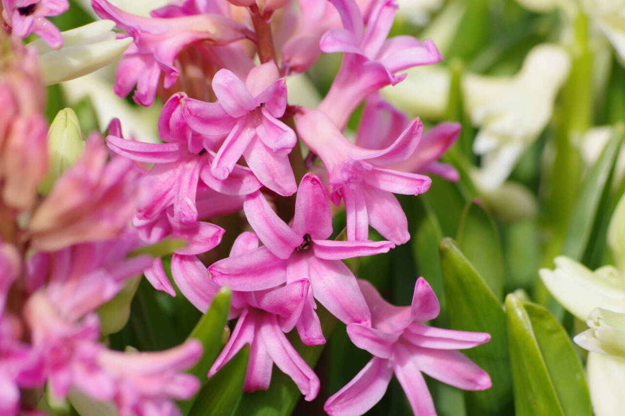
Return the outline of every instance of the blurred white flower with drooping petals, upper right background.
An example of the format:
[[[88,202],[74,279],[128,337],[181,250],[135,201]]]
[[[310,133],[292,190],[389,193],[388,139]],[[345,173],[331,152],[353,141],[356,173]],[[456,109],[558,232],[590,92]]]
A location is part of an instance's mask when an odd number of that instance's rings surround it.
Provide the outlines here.
[[[522,153],[551,119],[554,101],[571,69],[571,57],[551,44],[534,47],[521,71],[499,91],[488,91],[484,77],[467,77],[467,111],[480,126],[473,151],[482,155],[477,186],[496,189],[507,179]],[[486,94],[484,93],[486,92]],[[496,94],[496,95],[494,95]]]

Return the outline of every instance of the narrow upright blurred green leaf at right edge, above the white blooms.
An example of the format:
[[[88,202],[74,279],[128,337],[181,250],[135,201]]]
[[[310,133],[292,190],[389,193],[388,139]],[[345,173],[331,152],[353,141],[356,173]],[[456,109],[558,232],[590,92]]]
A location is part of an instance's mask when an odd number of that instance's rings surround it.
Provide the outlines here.
[[[621,147],[622,137],[623,128],[616,128],[596,164],[582,182],[582,188],[562,247],[562,254],[574,260],[581,260],[588,247],[598,217],[599,202],[604,192],[609,191],[611,185],[612,172],[618,150]]]

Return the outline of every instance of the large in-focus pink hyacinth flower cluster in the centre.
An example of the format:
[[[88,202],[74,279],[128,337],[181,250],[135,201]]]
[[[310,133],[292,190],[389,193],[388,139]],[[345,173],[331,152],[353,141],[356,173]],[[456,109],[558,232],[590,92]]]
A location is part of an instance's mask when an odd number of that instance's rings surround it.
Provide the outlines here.
[[[139,201],[134,227],[144,242],[187,242],[173,254],[171,275],[197,309],[205,312],[220,287],[233,290],[229,317],[237,322],[209,377],[247,344],[245,391],[269,388],[276,364],[306,400],[314,399],[319,379],[284,334],[296,329],[304,344],[324,344],[319,302],[374,355],[327,402],[331,414],[366,412],[392,372],[419,414],[434,411],[419,370],[462,389],[490,387],[488,375],[457,352],[487,342],[488,334],[419,324],[438,314],[425,280],[417,281],[411,307],[393,307],[341,261],[409,240],[394,194],[426,192],[426,172],[458,177],[437,159],[459,126],[444,123],[424,135],[418,118],[409,121],[378,94],[406,77],[400,71],[442,59],[432,41],[387,39],[394,1],[187,0],[152,17],[106,0],[92,4],[133,39],[117,69],[116,93],[136,87],[138,104],[151,106],[156,96],[164,102],[163,142],[125,139],[119,126],[106,137],[111,151],[149,164],[142,179],[149,194]],[[341,69],[321,104],[289,105],[286,78],[336,52],[343,54]],[[343,131],[362,103],[354,143]],[[340,231],[332,229],[331,203],[345,211],[345,239],[331,239]],[[226,254],[221,239],[232,230],[214,224],[241,210],[247,226]],[[385,240],[369,239],[369,226]],[[176,294],[160,259],[145,275],[156,289]],[[362,401],[354,386],[374,392]]]

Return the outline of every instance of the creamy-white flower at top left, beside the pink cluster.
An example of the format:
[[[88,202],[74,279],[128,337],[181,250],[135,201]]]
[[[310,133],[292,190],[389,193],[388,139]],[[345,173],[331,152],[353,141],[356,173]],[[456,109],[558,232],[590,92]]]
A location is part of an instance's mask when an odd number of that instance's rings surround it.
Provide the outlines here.
[[[41,74],[47,85],[58,84],[104,67],[126,51],[132,37],[116,39],[115,22],[99,20],[61,32],[63,47],[51,49],[42,39],[29,43],[39,51]]]

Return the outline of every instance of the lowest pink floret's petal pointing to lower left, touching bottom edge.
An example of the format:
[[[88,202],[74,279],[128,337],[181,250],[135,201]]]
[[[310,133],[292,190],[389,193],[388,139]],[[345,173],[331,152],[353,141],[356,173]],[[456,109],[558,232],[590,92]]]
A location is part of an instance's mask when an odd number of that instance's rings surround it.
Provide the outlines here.
[[[363,415],[382,399],[391,377],[389,361],[373,357],[356,377],[327,399],[323,409],[331,416]]]

